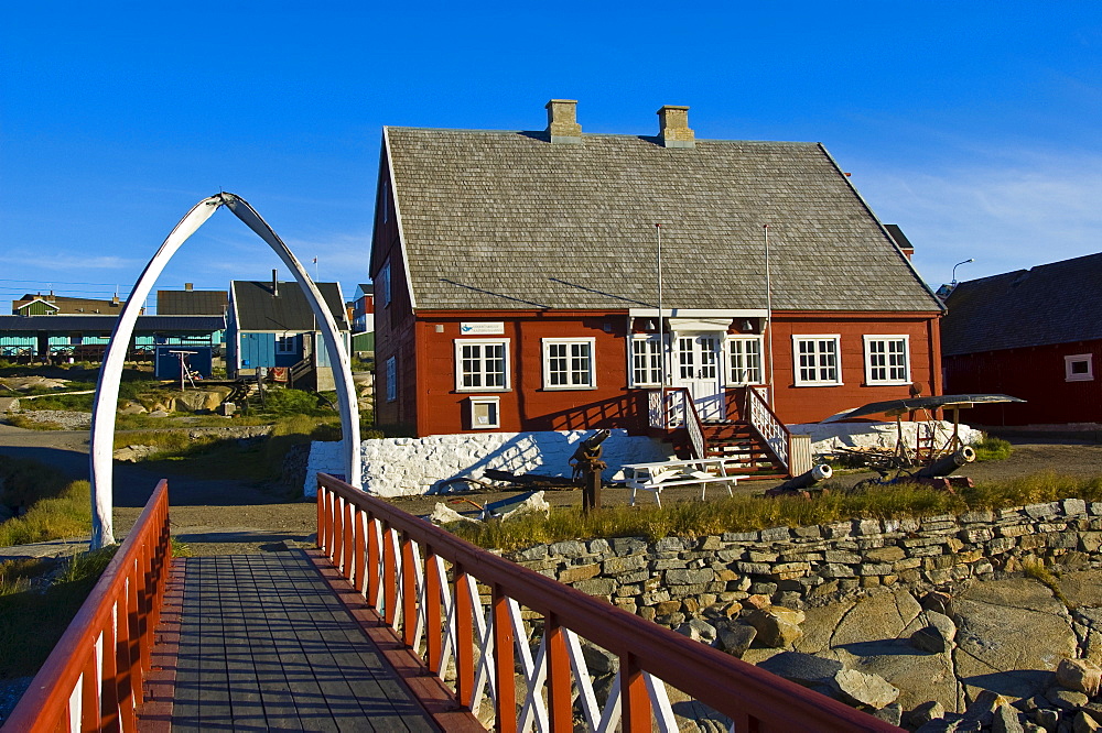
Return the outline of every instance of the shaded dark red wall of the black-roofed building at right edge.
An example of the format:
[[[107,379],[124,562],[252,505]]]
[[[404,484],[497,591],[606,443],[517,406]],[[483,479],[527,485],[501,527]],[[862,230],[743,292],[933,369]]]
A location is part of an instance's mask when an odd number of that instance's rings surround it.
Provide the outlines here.
[[[1065,357],[1091,354],[1094,379],[1069,382]],[[1102,423],[1102,341],[1005,349],[946,357],[946,391],[992,392],[1026,404],[974,407],[962,419],[976,425]]]

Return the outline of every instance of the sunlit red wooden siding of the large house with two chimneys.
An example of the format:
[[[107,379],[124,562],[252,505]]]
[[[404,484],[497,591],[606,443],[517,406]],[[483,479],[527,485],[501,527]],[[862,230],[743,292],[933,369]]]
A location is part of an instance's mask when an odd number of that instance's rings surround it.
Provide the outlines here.
[[[395,266],[392,263],[391,267]],[[397,293],[396,288],[396,303],[391,307],[398,305]],[[465,321],[501,322],[504,333],[463,337],[460,325]],[[787,423],[817,422],[846,408],[908,394],[906,384],[865,384],[865,335],[907,336],[911,381],[921,382],[925,394],[931,394],[931,385],[934,393],[940,393],[940,366],[933,340],[937,320],[931,314],[777,314],[774,328],[777,412]],[[495,395],[500,403],[500,426],[495,430],[512,433],[599,427],[626,428],[633,433],[646,430],[646,391],[627,389],[625,313],[432,311],[418,315],[414,330],[417,336],[412,341],[399,338],[396,350],[379,353],[380,376],[383,376],[386,355],[391,351],[398,353],[401,403],[400,406],[386,403],[386,384],[380,380],[377,392],[380,422],[387,422],[392,415],[390,422],[415,423],[418,435],[478,431],[469,425],[468,400],[473,395]],[[796,386],[793,333],[840,336],[842,385]],[[395,332],[393,336],[406,333]],[[456,390],[455,341],[464,338],[509,340],[509,390],[471,393]],[[543,389],[544,338],[592,338],[595,387]],[[731,411],[730,416],[737,417],[735,411]]]

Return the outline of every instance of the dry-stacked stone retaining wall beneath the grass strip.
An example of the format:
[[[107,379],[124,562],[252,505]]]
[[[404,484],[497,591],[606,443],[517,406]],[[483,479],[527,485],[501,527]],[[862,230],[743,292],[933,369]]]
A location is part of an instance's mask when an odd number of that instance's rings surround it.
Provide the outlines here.
[[[1078,499],[921,519],[854,519],[698,538],[536,545],[510,559],[665,625],[733,615],[752,594],[800,609],[883,586],[946,588],[1033,556],[1102,567],[1102,503]]]

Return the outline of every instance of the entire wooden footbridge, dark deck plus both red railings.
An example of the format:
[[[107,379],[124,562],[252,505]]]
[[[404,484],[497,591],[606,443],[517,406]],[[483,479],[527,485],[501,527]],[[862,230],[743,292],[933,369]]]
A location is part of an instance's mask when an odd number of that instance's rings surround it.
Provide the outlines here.
[[[318,482],[317,549],[173,561],[162,481],[3,731],[899,730]]]

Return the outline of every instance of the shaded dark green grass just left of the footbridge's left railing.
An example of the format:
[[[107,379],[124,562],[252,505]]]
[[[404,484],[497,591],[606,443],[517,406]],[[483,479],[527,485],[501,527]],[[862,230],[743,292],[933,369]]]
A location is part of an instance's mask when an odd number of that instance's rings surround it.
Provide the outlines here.
[[[39,670],[117,549],[73,556],[45,592],[0,594],[0,679]]]

